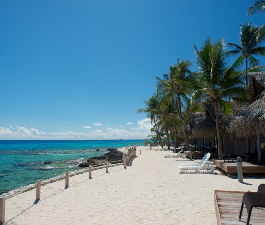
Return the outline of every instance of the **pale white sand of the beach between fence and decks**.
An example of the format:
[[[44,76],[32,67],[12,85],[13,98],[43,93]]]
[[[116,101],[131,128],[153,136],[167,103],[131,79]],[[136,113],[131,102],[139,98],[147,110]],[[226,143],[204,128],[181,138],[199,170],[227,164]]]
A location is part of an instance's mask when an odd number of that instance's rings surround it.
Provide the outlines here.
[[[139,155],[141,149],[141,155]],[[264,178],[244,183],[219,171],[181,174],[187,159],[164,158],[162,151],[137,148],[131,166],[95,170],[6,200],[6,224],[216,224],[213,190],[257,191]]]

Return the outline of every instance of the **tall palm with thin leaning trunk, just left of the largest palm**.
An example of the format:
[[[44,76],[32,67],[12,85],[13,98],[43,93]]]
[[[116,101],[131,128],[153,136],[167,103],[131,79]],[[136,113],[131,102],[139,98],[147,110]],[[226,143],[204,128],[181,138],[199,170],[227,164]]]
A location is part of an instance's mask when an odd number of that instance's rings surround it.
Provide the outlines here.
[[[177,64],[170,67],[169,76],[164,76],[164,80],[156,77],[159,82],[167,89],[168,95],[172,97],[172,102],[176,106],[176,112],[181,121],[181,126],[184,133],[186,149],[189,150],[189,140],[186,134],[183,111],[185,111],[185,101],[188,101],[187,94],[191,89],[183,88],[179,83],[181,81],[192,83],[195,81],[194,74],[190,71],[191,61],[184,61],[178,59]],[[192,159],[192,154],[190,153],[190,160]]]

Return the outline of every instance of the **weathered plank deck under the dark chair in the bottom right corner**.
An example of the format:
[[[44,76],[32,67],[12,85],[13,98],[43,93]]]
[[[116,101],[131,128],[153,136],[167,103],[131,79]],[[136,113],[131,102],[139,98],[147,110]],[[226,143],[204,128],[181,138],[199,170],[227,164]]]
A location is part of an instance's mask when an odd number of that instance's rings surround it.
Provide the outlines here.
[[[247,211],[244,207],[241,221],[238,220],[242,198],[245,192],[214,190],[214,205],[218,225],[246,224]],[[250,224],[265,224],[265,211],[254,208]]]

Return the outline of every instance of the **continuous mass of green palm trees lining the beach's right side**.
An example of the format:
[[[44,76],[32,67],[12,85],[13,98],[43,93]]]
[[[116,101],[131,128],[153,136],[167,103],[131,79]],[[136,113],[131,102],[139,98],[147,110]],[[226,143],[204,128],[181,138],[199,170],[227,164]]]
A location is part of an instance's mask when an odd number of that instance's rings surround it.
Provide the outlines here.
[[[264,0],[255,1],[248,14],[261,11],[265,11]],[[144,100],[145,108],[138,110],[138,113],[147,113],[153,124],[149,138],[154,145],[163,147],[166,144],[170,149],[171,142],[177,147],[180,141],[184,141],[188,150],[190,137],[187,135],[187,124],[192,114],[202,111],[203,105],[210,104],[215,111],[218,157],[221,158],[220,112],[230,114],[234,105],[232,102],[240,104],[247,100],[247,89],[253,82],[247,74],[263,68],[256,56],[265,56],[265,47],[262,46],[264,27],[249,22],[241,24],[238,44],[208,38],[201,49],[194,45],[196,71],[191,71],[190,60],[178,59],[175,65],[169,67],[168,73],[155,77],[156,93],[149,100]],[[231,61],[230,56],[236,55],[239,57]]]

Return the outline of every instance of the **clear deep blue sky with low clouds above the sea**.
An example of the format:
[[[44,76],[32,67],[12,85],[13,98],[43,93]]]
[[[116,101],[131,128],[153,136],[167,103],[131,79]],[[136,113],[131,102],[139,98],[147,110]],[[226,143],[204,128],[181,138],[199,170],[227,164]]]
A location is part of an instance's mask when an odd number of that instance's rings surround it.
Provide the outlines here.
[[[0,0],[0,139],[144,139],[143,99],[252,0]],[[264,59],[261,60],[265,64]]]

